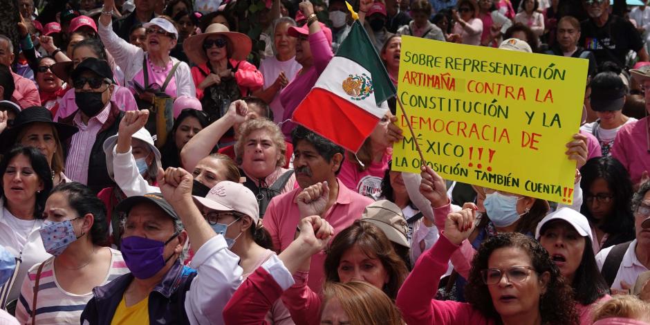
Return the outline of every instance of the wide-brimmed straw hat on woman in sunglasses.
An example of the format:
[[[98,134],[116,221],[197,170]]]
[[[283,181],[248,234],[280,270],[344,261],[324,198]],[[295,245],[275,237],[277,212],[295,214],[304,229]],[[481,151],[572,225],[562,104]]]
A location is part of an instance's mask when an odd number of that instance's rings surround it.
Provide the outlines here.
[[[222,35],[228,39],[228,46],[232,50],[232,55],[229,59],[243,61],[248,57],[252,48],[252,41],[250,41],[248,36],[241,32],[231,32],[223,24],[211,24],[207,26],[203,34],[194,35],[183,41],[183,50],[194,64],[204,64],[207,62],[207,55],[205,54],[205,50],[203,50],[203,41],[213,35]]]

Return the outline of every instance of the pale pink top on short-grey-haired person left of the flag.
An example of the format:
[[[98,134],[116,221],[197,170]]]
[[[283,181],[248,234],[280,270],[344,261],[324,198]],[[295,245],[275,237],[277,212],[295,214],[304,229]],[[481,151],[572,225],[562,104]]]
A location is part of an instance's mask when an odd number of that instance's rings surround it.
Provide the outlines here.
[[[264,89],[270,87],[281,71],[284,71],[289,82],[293,80],[302,66],[296,61],[295,57],[286,61],[278,61],[275,56],[263,59],[259,64],[259,72],[264,76]],[[273,111],[273,122],[282,122],[282,115],[284,114],[284,107],[280,103],[279,92],[273,97],[273,101],[268,105]]]

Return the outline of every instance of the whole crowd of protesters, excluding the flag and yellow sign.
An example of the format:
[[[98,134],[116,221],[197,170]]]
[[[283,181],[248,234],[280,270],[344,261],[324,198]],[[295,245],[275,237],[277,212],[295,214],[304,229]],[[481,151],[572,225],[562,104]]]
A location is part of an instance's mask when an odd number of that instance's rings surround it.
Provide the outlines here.
[[[15,1],[0,324],[650,325],[638,2]],[[395,100],[357,152],[296,124],[353,24],[395,86],[402,35],[586,59],[573,205],[393,171]]]

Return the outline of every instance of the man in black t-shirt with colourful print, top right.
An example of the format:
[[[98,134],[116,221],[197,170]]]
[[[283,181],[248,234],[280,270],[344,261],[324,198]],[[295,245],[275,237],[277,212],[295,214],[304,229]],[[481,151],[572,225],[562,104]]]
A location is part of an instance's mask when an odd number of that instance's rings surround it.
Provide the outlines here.
[[[582,6],[589,18],[581,23],[578,44],[593,51],[599,66],[611,61],[625,68],[629,50],[635,51],[640,61],[648,61],[638,30],[627,19],[609,13],[609,0],[583,0]]]

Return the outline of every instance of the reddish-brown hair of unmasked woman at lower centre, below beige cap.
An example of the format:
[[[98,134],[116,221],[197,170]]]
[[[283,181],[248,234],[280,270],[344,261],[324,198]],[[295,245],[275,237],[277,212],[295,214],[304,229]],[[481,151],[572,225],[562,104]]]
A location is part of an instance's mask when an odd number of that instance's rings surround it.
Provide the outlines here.
[[[382,262],[382,266],[389,275],[389,281],[382,290],[391,299],[395,299],[409,271],[404,260],[395,252],[393,244],[386,234],[369,222],[356,220],[334,237],[325,257],[326,281],[341,281],[338,272],[341,257],[354,245],[358,245],[367,256],[377,257]]]

